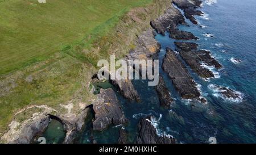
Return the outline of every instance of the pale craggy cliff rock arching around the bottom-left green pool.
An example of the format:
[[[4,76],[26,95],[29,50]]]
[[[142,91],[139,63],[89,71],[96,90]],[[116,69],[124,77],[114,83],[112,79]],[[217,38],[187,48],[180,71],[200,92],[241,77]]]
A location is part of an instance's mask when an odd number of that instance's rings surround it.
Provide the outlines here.
[[[66,131],[63,143],[72,143],[75,138],[75,134],[81,131],[82,125],[84,125],[84,119],[86,118],[89,110],[85,107],[79,115],[69,112],[65,115],[53,115],[56,114],[57,111],[44,105],[30,106],[25,110],[35,107],[41,108],[42,112],[35,112],[31,118],[24,120],[23,122],[16,122],[16,120],[13,120],[9,125],[9,131],[1,137],[1,140],[5,141],[5,143],[31,143],[34,137],[41,135],[46,130],[50,119],[53,118],[60,121]]]

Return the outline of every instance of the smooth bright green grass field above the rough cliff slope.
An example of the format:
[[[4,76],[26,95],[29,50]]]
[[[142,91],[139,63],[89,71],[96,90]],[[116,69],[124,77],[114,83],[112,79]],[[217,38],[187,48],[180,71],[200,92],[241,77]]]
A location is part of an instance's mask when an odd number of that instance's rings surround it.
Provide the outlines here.
[[[131,7],[151,0],[0,0],[0,76],[104,35]],[[89,38],[89,39],[88,39]]]

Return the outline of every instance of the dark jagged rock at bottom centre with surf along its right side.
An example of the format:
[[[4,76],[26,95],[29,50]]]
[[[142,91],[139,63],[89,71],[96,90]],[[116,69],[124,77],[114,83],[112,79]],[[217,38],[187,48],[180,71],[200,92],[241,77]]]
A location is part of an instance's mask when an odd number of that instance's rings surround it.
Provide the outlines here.
[[[151,124],[152,116],[147,116],[139,120],[138,136],[136,143],[138,144],[175,144],[175,139],[166,136],[158,135],[155,127]]]

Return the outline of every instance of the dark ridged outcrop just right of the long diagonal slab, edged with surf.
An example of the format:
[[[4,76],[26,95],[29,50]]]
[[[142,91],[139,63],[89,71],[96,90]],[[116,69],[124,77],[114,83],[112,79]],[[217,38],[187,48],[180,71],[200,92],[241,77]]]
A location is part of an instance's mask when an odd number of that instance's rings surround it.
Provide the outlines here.
[[[175,45],[179,48],[178,51],[183,60],[185,60],[185,62],[191,67],[191,69],[196,72],[200,77],[214,77],[212,71],[204,68],[201,62],[204,62],[209,66],[214,66],[215,68],[221,68],[220,63],[218,63],[212,56],[210,56],[209,51],[196,51],[198,47],[196,43],[175,42]]]

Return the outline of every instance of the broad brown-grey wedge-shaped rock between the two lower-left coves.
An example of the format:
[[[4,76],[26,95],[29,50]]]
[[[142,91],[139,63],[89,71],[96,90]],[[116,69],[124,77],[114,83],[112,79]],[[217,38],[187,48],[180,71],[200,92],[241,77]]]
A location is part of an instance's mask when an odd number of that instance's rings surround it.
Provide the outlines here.
[[[100,101],[93,104],[95,112],[94,130],[102,131],[110,124],[119,125],[128,122],[112,89],[101,89],[98,98]]]

